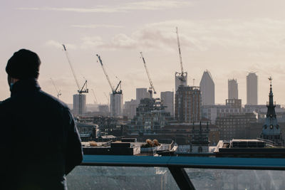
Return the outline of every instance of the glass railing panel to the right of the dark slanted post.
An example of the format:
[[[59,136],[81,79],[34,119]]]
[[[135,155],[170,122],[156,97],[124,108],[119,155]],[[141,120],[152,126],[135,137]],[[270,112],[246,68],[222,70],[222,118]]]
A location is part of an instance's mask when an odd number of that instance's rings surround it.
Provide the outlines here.
[[[285,188],[285,171],[185,169],[195,189],[267,190]]]

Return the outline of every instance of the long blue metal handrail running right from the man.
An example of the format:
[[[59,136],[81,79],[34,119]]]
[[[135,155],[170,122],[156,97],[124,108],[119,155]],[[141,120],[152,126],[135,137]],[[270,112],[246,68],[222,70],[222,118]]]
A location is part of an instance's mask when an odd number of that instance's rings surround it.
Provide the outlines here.
[[[84,155],[81,165],[113,167],[181,167],[203,169],[285,170],[285,159]]]

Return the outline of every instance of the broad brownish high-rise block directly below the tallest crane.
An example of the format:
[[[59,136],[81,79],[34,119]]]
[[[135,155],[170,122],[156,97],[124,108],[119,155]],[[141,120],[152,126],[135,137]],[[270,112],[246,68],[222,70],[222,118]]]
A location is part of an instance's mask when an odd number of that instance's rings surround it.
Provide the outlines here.
[[[199,87],[180,86],[175,94],[175,120],[199,122],[202,119],[202,100]]]

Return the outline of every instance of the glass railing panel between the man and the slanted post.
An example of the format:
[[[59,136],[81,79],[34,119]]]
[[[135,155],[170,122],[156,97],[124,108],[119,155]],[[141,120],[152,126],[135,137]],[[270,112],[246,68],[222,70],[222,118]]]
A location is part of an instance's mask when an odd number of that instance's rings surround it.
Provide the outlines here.
[[[165,167],[79,166],[67,176],[68,190],[179,189]]]

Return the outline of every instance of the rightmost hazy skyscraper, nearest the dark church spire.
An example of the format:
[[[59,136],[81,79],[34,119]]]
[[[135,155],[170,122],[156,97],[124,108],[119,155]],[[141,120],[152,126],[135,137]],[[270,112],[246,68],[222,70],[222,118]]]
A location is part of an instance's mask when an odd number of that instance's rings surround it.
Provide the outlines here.
[[[257,75],[253,72],[247,75],[247,105],[257,105]]]

